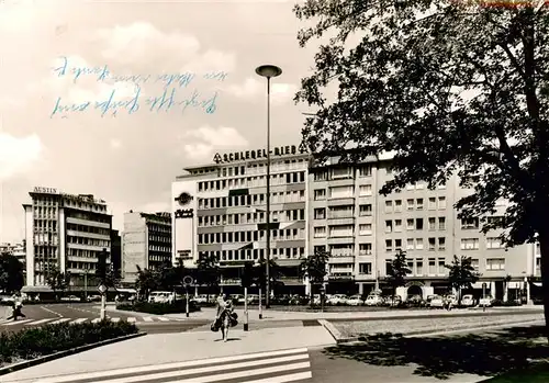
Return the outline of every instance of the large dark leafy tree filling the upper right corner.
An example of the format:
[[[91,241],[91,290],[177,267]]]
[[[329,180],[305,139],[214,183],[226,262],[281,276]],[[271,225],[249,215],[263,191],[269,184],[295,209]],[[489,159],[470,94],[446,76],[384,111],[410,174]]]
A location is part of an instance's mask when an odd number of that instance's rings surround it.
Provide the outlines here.
[[[549,8],[525,3],[298,4],[295,15],[314,22],[301,46],[333,37],[295,101],[317,110],[302,132],[311,151],[394,156],[383,194],[457,176],[471,191],[457,203],[460,217],[480,217],[484,233],[504,228],[509,246],[537,237],[549,331]],[[503,218],[486,221],[498,200],[508,202]]]

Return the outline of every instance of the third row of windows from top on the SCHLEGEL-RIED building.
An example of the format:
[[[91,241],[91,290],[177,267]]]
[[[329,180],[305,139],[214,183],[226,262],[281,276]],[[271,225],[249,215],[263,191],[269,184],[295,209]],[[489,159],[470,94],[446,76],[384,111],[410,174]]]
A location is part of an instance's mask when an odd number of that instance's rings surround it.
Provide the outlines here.
[[[294,222],[304,219],[305,219],[304,209],[271,212],[271,222]],[[265,222],[266,222],[265,212],[199,216],[199,227],[250,225]]]

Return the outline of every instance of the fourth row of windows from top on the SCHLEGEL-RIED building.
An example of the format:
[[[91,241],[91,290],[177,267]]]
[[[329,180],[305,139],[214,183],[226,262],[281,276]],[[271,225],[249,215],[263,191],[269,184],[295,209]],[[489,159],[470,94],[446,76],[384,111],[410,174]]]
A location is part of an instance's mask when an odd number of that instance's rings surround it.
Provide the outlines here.
[[[287,228],[271,230],[272,240],[298,240],[305,239],[304,228]],[[265,230],[206,233],[199,234],[199,245],[210,244],[237,244],[266,240]]]

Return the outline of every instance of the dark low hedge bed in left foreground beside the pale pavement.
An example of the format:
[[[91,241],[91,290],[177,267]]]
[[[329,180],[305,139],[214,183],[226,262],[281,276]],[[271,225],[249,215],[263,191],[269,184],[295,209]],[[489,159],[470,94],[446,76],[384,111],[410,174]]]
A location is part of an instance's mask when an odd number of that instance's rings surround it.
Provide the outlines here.
[[[56,324],[18,333],[0,333],[0,365],[30,360],[99,341],[137,334],[134,324],[109,319],[98,323]]]

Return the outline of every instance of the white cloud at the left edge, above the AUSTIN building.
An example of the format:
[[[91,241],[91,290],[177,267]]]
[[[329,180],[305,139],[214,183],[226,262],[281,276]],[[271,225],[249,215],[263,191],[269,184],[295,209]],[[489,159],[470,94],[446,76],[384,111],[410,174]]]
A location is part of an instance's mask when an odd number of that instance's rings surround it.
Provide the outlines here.
[[[31,170],[43,149],[36,134],[18,138],[0,133],[0,181]]]

